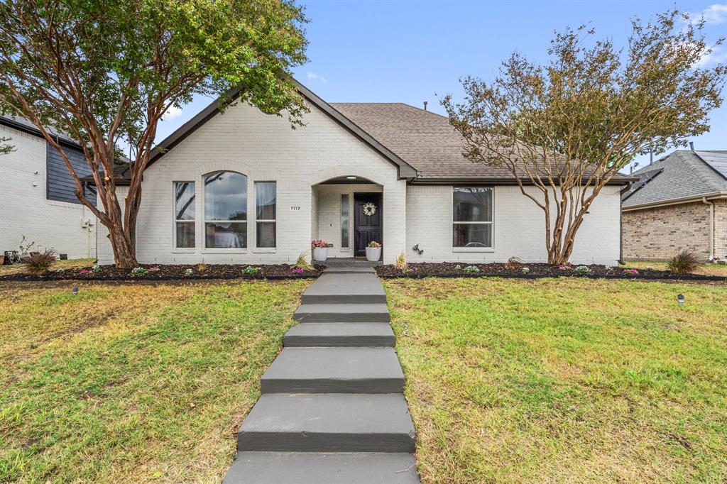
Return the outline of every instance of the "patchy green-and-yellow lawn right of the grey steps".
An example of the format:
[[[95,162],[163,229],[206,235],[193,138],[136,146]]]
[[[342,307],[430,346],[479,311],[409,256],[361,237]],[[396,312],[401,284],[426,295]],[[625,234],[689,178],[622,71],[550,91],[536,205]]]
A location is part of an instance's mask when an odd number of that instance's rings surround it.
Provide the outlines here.
[[[424,483],[726,482],[726,286],[385,287]]]

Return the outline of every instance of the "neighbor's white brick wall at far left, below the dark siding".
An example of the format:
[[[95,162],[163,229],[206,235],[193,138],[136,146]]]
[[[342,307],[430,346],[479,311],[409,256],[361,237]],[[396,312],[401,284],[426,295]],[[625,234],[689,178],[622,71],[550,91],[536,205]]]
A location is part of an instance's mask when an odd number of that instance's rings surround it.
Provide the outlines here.
[[[95,257],[96,217],[79,203],[46,198],[45,140],[2,125],[0,137],[11,137],[16,148],[0,156],[0,254],[17,250],[25,235],[71,259]],[[84,219],[90,230],[81,227]]]

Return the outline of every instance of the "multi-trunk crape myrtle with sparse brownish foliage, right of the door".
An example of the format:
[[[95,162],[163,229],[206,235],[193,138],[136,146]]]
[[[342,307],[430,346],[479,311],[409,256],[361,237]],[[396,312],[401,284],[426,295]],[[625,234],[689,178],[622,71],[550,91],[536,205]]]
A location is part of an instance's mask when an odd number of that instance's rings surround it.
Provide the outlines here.
[[[545,212],[548,262],[568,262],[603,187],[632,159],[686,145],[710,129],[726,68],[701,66],[715,46],[677,11],[632,20],[627,47],[556,33],[545,65],[513,54],[493,81],[462,78],[463,102],[441,102],[465,158],[507,169]]]

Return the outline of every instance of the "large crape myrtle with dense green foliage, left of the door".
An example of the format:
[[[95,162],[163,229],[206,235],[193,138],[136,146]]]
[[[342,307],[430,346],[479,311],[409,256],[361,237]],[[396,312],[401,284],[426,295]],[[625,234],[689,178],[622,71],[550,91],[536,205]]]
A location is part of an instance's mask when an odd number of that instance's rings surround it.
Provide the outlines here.
[[[306,60],[305,21],[291,0],[1,0],[0,112],[30,120],[60,152],[76,196],[108,227],[116,266],[134,267],[159,120],[204,95],[300,125],[307,108],[289,73]],[[239,97],[225,97],[238,87]],[[51,130],[81,142],[98,207]],[[119,146],[132,161],[121,201]]]

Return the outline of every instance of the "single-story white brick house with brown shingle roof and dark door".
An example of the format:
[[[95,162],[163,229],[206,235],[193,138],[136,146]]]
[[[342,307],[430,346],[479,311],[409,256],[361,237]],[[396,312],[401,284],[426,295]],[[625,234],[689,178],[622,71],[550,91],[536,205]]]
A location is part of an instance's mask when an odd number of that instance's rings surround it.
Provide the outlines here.
[[[213,103],[161,142],[142,181],[139,262],[294,262],[313,239],[332,243],[329,257],[360,256],[376,240],[385,263],[401,252],[409,262],[547,259],[542,211],[507,172],[462,158],[446,118],[400,103],[329,105],[298,87],[310,105],[303,127]],[[574,262],[619,259],[622,184],[590,209]]]

